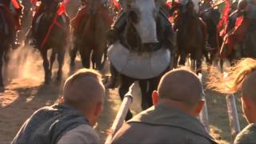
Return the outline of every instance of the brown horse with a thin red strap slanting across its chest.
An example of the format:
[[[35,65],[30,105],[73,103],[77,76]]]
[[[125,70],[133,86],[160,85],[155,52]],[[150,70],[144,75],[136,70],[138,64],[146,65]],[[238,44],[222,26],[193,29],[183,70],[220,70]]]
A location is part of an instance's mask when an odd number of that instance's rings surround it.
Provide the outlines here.
[[[38,30],[35,32],[37,39],[37,48],[40,51],[45,70],[45,83],[51,81],[51,71],[53,64],[58,55],[58,76],[57,80],[62,78],[62,66],[66,53],[66,44],[68,34],[70,34],[70,19],[65,13],[58,14],[59,4],[53,2],[45,6],[45,12],[39,15]],[[50,64],[47,51],[52,50]]]

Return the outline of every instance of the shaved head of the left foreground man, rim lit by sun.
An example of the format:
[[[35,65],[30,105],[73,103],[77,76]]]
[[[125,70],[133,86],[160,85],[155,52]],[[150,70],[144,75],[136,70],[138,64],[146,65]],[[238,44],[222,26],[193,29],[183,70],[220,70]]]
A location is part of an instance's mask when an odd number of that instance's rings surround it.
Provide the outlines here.
[[[91,105],[103,102],[104,96],[101,75],[95,70],[78,70],[64,84],[64,102],[76,108],[90,108]]]

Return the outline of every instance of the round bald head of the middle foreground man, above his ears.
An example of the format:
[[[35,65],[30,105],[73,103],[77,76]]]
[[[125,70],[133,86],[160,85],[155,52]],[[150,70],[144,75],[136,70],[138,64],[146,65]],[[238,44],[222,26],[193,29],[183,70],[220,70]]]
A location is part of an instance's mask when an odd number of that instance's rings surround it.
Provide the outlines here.
[[[165,74],[158,86],[159,98],[196,106],[202,100],[202,83],[188,70],[172,70]]]

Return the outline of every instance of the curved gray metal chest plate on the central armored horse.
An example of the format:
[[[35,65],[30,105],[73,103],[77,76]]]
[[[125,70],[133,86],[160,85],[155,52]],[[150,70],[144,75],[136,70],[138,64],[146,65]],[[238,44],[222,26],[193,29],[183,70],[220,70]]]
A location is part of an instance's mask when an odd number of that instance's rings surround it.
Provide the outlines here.
[[[139,54],[119,41],[109,47],[108,58],[119,73],[135,79],[157,77],[170,66],[170,50],[166,48]]]

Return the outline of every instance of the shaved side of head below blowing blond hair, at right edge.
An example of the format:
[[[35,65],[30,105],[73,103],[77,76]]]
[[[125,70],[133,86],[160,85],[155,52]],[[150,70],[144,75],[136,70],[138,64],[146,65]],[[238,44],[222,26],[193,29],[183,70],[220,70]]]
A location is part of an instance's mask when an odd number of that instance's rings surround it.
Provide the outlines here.
[[[252,101],[256,102],[256,70],[248,75],[242,83],[242,95],[249,97]]]

